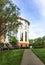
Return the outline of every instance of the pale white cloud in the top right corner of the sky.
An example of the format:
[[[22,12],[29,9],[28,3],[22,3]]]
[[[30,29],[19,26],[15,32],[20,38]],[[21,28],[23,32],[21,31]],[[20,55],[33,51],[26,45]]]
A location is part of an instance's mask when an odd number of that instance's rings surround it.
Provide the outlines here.
[[[40,14],[45,16],[45,0],[33,0],[34,3],[39,8]]]

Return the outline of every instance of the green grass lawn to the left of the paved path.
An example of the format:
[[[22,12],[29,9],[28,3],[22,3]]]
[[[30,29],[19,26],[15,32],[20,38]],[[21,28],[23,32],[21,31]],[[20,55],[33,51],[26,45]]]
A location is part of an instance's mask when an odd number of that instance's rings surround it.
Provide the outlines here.
[[[0,65],[20,65],[23,49],[0,52]]]

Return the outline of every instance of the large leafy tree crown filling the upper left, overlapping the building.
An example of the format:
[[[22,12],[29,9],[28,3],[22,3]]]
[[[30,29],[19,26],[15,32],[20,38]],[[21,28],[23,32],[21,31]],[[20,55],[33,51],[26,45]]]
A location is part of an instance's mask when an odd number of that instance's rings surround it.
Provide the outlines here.
[[[0,36],[7,31],[17,31],[21,24],[18,22],[19,8],[10,0],[0,0]]]

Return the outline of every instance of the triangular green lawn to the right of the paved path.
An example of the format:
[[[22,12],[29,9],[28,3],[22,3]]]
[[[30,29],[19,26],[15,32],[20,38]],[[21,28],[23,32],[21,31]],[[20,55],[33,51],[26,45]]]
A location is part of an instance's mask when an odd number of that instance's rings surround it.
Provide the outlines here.
[[[45,64],[45,48],[42,49],[32,49],[32,51],[40,58],[40,60]]]

